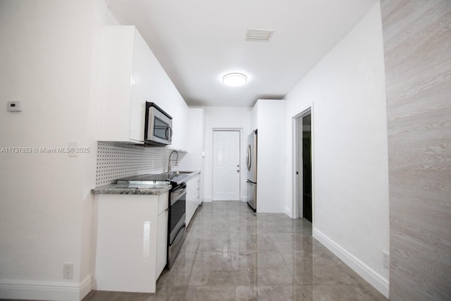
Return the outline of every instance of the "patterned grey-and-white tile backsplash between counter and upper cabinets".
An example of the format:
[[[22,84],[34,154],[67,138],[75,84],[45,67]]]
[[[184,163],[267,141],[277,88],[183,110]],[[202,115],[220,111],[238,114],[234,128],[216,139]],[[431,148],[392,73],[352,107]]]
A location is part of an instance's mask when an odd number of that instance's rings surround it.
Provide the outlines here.
[[[96,187],[127,176],[162,173],[168,168],[171,152],[166,147],[97,142]]]

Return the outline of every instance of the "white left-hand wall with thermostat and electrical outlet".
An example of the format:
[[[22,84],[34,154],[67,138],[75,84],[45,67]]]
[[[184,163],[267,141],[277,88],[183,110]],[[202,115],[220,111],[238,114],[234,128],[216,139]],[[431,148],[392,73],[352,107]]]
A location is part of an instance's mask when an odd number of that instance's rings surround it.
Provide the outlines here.
[[[101,1],[0,3],[0,147],[77,141],[90,149],[78,157],[0,153],[0,298],[79,300],[89,292],[97,145],[92,82],[105,13]],[[23,111],[6,112],[10,100],[22,101]],[[73,279],[63,279],[64,262],[73,263]]]

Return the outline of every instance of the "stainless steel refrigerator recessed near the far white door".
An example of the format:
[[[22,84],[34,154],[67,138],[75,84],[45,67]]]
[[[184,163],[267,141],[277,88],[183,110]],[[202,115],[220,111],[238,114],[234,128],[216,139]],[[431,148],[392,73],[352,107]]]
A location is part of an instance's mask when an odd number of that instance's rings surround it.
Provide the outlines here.
[[[247,204],[257,211],[257,130],[247,137]]]

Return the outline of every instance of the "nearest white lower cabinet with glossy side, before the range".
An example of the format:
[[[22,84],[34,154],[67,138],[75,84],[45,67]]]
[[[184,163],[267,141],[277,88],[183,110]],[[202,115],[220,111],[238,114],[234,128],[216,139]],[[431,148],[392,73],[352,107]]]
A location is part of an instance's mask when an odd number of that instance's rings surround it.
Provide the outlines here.
[[[166,266],[168,192],[97,195],[94,289],[155,293]]]

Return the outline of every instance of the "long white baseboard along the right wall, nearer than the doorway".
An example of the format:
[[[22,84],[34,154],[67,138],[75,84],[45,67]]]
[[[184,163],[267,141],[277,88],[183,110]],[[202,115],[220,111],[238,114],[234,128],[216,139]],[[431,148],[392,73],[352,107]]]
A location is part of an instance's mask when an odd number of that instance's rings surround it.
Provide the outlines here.
[[[378,290],[382,295],[388,298],[389,286],[388,280],[386,278],[364,264],[364,262],[360,261],[360,259],[352,255],[350,252],[347,252],[347,250],[340,247],[340,245],[328,238],[316,228],[314,228],[313,230],[313,237],[316,238],[316,240],[319,240],[319,242],[327,247],[330,252],[333,252],[335,256],[340,258],[357,274],[368,281],[369,284],[373,285],[376,290]]]

